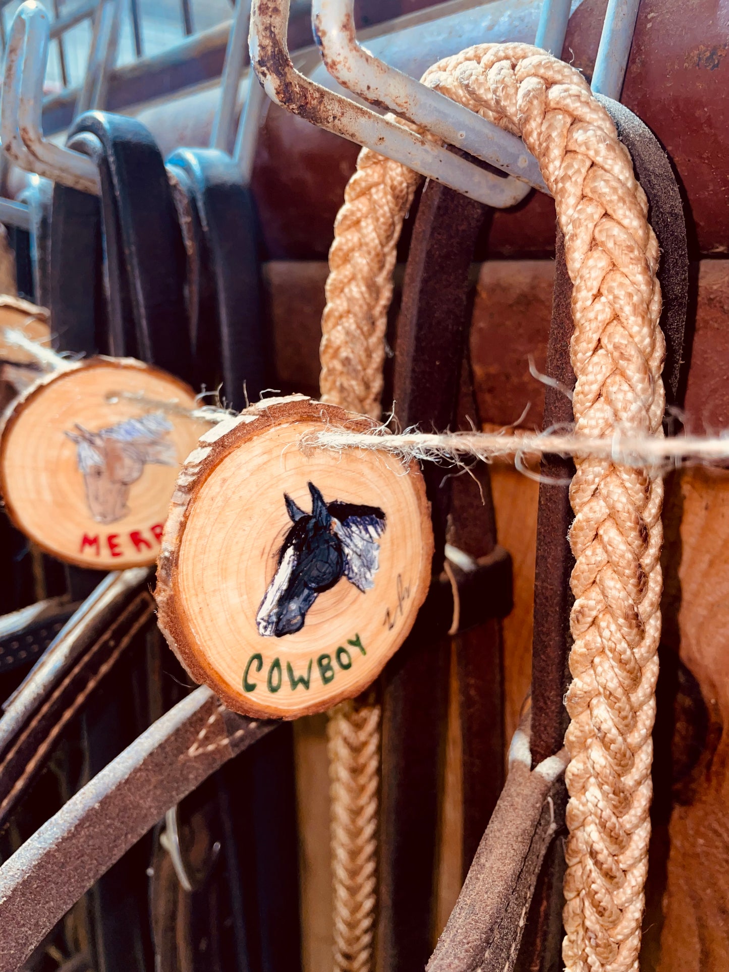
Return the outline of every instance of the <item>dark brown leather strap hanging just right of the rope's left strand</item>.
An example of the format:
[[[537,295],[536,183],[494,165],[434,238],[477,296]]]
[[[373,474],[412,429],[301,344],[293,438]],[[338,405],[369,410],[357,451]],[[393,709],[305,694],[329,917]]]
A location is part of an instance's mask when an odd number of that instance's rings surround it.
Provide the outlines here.
[[[394,398],[403,427],[418,424],[424,429],[446,429],[452,428],[457,418],[468,334],[469,266],[486,212],[480,204],[432,183],[421,197],[405,270],[396,343]],[[445,477],[444,482],[442,469],[431,466],[424,471],[434,512],[437,577],[444,562],[453,481]],[[459,487],[465,481],[466,477]],[[476,484],[470,486],[478,494]],[[469,554],[491,554],[495,544],[493,519],[477,517],[470,529]],[[465,531],[451,533],[456,543],[467,542]],[[461,578],[459,586],[464,587],[466,604],[466,577]],[[510,585],[506,601],[510,603]],[[486,608],[479,619],[484,620],[488,613]],[[494,613],[499,613],[498,609]],[[465,618],[467,614],[465,610]],[[432,592],[383,677],[383,853],[379,863],[377,967],[392,972],[421,969],[431,951],[439,752],[450,663],[448,629],[443,632],[442,624],[447,617],[452,621],[446,605],[438,609]],[[493,647],[494,642],[488,650]],[[461,661],[466,661],[463,650]],[[470,720],[472,708],[468,712]],[[467,732],[475,727],[469,720],[464,722]],[[469,760],[471,769],[476,764],[477,760]],[[474,843],[472,838],[470,843]]]

